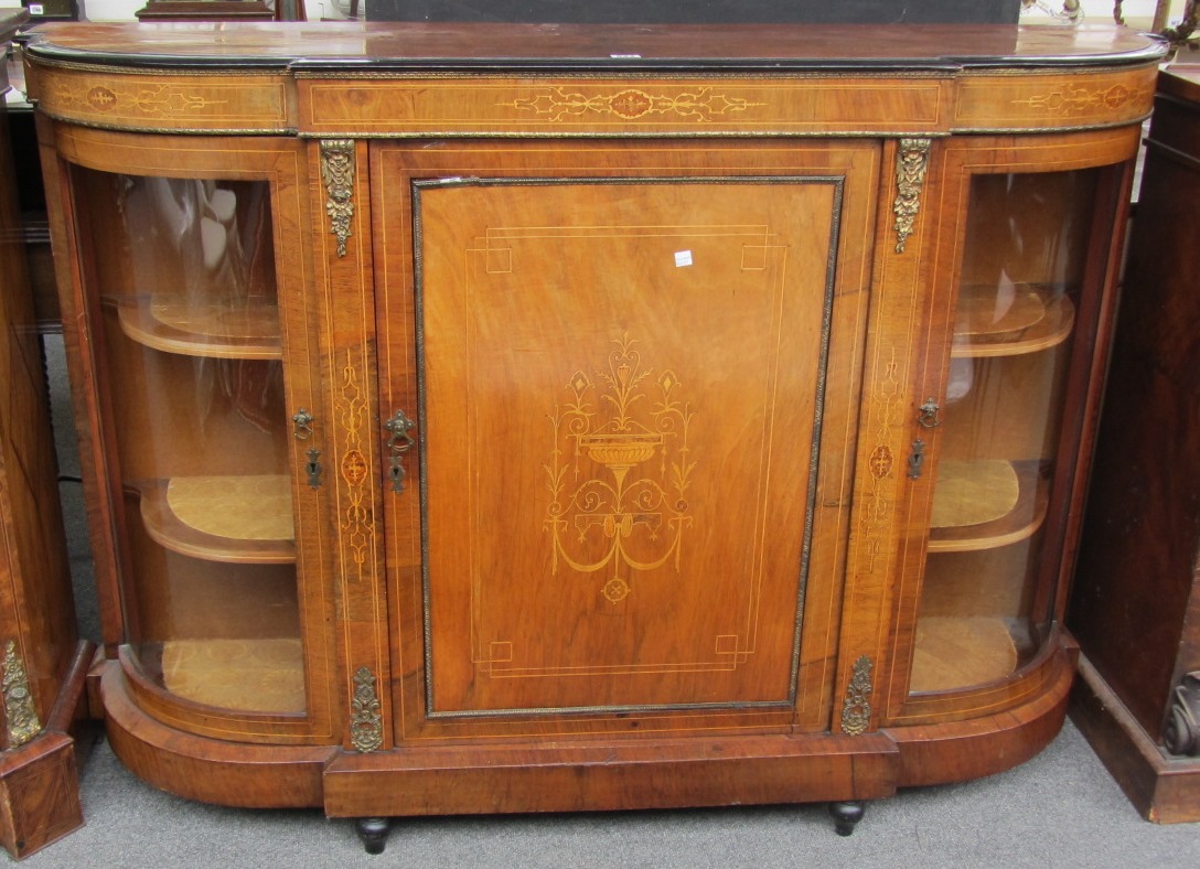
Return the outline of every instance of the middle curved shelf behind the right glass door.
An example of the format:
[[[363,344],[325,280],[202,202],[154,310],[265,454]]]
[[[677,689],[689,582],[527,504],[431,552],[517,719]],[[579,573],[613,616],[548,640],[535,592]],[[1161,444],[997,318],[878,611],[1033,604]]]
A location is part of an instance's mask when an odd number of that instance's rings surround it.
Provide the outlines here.
[[[1031,537],[1046,515],[1036,462],[943,460],[937,466],[930,552],[970,552]]]

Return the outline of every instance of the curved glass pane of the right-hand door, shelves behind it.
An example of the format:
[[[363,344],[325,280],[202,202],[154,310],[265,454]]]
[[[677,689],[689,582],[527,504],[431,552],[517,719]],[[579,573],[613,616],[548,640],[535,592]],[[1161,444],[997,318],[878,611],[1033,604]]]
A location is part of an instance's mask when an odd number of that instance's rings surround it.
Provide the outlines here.
[[[1048,505],[1096,190],[1097,170],[972,180],[913,691],[1006,677],[1046,635]]]

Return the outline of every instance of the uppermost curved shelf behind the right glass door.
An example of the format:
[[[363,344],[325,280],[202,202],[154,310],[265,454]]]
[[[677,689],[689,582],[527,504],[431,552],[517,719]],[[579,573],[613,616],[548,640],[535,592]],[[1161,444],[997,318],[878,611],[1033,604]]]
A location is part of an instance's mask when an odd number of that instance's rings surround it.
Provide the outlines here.
[[[1000,299],[994,286],[959,290],[952,356],[1037,353],[1061,344],[1075,325],[1075,306],[1049,284],[1018,283],[1003,304]]]

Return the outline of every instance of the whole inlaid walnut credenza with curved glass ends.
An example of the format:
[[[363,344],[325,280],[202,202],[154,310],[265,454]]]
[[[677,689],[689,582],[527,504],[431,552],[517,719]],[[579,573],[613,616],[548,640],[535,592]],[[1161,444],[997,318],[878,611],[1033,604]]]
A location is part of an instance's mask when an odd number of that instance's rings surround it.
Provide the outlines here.
[[[1159,54],[47,29],[118,754],[367,838],[1032,756]]]

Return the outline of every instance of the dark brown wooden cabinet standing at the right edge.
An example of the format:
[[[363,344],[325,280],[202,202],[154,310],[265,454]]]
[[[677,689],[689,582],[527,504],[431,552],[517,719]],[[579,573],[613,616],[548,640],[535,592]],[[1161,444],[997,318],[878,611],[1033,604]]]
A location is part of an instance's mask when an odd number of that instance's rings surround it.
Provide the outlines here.
[[[1069,625],[1073,718],[1138,810],[1200,820],[1200,67],[1159,79]]]

